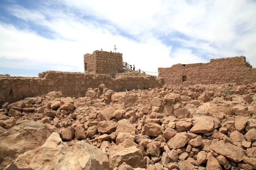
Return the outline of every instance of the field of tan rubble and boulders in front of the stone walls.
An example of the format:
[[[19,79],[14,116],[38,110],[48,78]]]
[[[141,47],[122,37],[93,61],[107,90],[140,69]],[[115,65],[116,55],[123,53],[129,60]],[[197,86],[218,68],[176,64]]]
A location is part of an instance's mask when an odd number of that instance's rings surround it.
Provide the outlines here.
[[[118,76],[118,75],[116,75]],[[170,86],[0,107],[5,170],[256,169],[256,84]]]

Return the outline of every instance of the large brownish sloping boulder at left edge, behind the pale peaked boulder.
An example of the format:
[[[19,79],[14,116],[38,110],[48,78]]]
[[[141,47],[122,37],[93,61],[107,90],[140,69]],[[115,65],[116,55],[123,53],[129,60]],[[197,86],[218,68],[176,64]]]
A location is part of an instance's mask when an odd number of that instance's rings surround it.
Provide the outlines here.
[[[52,132],[52,129],[39,122],[27,121],[1,133],[0,167],[13,163],[20,154],[44,144]]]

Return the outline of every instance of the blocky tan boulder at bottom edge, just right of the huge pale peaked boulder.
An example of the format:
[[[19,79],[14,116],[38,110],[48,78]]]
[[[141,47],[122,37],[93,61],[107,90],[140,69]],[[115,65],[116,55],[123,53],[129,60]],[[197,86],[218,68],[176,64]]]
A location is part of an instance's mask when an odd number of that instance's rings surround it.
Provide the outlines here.
[[[119,167],[124,162],[133,168],[145,167],[143,154],[135,146],[112,152],[109,159],[113,167]]]

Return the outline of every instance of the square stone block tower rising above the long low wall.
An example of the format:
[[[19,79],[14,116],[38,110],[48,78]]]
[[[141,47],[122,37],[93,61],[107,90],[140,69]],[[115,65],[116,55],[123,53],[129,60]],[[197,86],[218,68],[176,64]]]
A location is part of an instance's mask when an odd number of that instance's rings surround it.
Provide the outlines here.
[[[84,72],[94,74],[116,74],[122,70],[122,53],[93,51],[84,54]]]

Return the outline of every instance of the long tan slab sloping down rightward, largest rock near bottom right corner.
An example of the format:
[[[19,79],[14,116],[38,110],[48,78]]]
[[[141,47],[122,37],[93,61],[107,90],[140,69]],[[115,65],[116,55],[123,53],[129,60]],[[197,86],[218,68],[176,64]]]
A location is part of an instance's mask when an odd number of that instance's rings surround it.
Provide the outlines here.
[[[223,155],[231,161],[240,162],[244,159],[245,151],[241,147],[226,143],[223,140],[219,142],[213,141],[210,146],[215,153]]]

